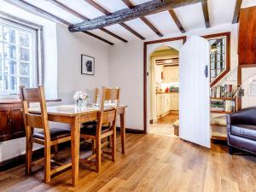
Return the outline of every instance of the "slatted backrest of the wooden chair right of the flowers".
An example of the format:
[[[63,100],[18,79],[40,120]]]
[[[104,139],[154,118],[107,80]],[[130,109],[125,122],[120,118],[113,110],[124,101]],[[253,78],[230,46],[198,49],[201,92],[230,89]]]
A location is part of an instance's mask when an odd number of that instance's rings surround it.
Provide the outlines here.
[[[117,107],[119,105],[119,88],[105,88],[102,87],[102,96],[99,108],[97,134],[102,132],[102,124],[111,125],[111,129],[115,129]],[[111,101],[110,106],[105,107],[105,102]]]

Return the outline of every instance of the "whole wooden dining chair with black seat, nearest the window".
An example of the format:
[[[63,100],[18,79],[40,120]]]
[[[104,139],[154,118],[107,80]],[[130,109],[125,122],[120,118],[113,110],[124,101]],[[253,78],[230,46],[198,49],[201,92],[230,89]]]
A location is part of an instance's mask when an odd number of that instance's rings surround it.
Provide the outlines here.
[[[49,183],[50,177],[56,172],[63,171],[67,167],[72,166],[71,163],[61,164],[56,160],[56,152],[58,143],[64,143],[71,140],[70,131],[60,128],[49,129],[49,121],[46,109],[44,96],[44,87],[26,89],[20,86],[20,99],[23,111],[23,119],[26,129],[26,175],[32,172],[32,166],[44,162],[44,182]],[[41,113],[29,113],[28,103],[39,102]],[[34,128],[42,131],[34,132]],[[32,162],[32,143],[44,145],[44,158]],[[55,160],[51,160],[50,148],[55,147]],[[54,162],[58,167],[50,168],[51,162]]]

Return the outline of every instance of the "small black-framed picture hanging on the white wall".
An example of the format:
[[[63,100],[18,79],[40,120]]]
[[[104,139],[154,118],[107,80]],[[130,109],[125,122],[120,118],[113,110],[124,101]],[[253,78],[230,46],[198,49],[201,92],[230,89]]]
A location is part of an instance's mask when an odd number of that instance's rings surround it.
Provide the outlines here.
[[[81,55],[81,74],[94,75],[95,59],[92,56]]]

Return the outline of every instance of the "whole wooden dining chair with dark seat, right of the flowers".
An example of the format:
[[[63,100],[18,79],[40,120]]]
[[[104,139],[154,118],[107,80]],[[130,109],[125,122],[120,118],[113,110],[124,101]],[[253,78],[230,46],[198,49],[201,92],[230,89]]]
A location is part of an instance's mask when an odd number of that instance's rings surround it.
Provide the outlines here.
[[[102,162],[102,139],[111,137],[111,154],[112,160],[115,161],[116,156],[116,116],[117,106],[119,104],[119,89],[106,89],[102,87],[102,96],[99,106],[98,119],[95,124],[87,125],[81,129],[80,134],[84,139],[91,139],[96,143],[96,172],[101,172]],[[114,102],[113,106],[104,109],[106,101]],[[109,125],[109,126],[102,126]],[[104,152],[104,151],[103,151]],[[81,160],[85,163],[92,164],[90,160]]]

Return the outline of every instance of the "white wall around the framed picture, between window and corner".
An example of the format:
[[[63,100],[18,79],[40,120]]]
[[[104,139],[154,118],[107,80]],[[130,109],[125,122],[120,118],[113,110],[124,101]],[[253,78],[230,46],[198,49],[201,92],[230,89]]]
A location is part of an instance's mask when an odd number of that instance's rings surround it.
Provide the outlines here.
[[[73,103],[76,90],[108,86],[108,44],[57,25],[58,98]],[[95,57],[95,75],[81,74],[81,54]]]

